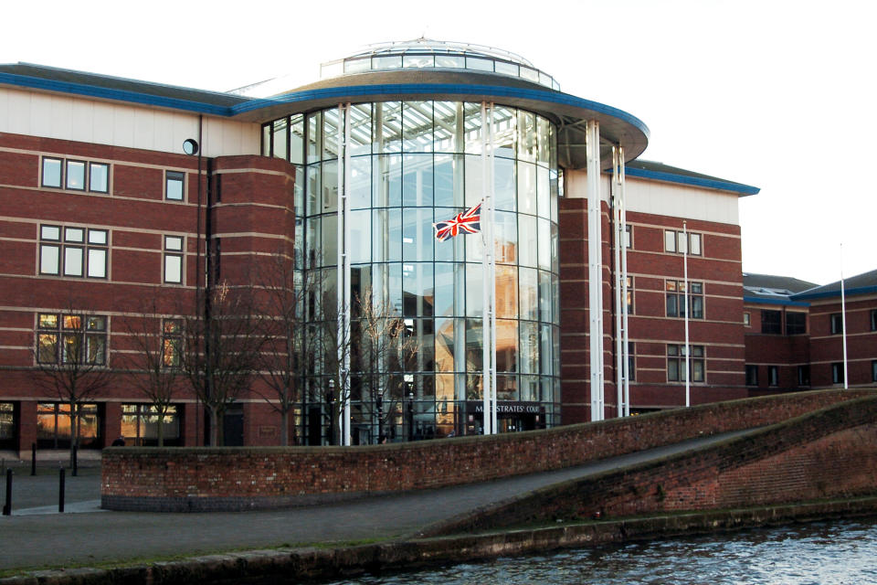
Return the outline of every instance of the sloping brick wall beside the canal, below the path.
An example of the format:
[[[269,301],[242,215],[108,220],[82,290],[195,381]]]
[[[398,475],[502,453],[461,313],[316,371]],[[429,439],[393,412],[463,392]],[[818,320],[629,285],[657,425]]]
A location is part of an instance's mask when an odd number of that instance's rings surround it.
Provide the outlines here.
[[[618,518],[877,496],[877,396],[541,490],[428,527],[460,534],[555,518]]]

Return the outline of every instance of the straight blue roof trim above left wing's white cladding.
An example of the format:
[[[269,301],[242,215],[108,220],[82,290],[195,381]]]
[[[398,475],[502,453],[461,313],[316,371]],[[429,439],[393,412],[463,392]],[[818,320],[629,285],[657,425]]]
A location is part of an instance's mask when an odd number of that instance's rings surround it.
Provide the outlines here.
[[[85,85],[82,83],[71,83],[69,81],[45,80],[38,77],[30,77],[27,75],[16,75],[14,73],[0,72],[0,84],[16,85],[19,87],[32,88],[35,90],[57,91],[59,93],[71,93],[74,95],[88,96],[90,98],[101,98],[104,100],[114,101],[130,101],[132,103],[141,103],[143,105],[156,106],[160,108],[171,108],[174,110],[184,110],[186,112],[206,113],[215,116],[230,117],[233,115],[231,109],[227,106],[217,106],[201,101],[180,100],[178,98],[167,98],[163,96],[152,95],[149,93],[140,93],[138,91],[129,90],[112,90],[110,88],[101,88],[94,85]]]

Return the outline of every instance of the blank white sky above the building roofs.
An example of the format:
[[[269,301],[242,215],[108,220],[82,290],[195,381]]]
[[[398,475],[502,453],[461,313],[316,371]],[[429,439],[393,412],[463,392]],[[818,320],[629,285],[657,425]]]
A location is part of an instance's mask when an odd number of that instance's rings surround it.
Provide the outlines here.
[[[0,63],[230,90],[369,43],[503,48],[637,116],[642,158],[761,187],[745,271],[826,283],[877,269],[877,3],[861,0],[10,2]]]

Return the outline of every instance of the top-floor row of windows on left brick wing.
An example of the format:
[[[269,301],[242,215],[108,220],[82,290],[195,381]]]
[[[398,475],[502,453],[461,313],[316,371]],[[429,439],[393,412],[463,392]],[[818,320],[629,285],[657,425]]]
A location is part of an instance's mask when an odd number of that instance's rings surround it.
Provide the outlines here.
[[[111,166],[107,163],[44,156],[40,185],[90,193],[110,192]],[[182,201],[185,198],[185,173],[164,172],[164,198]]]

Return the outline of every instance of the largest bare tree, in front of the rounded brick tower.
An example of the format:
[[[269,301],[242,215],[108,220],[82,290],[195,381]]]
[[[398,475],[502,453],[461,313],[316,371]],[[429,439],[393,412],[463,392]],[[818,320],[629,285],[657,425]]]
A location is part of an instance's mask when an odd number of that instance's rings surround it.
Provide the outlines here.
[[[223,445],[226,410],[259,367],[260,319],[250,294],[225,282],[198,301],[199,310],[184,317],[180,367],[210,412],[210,444]]]

